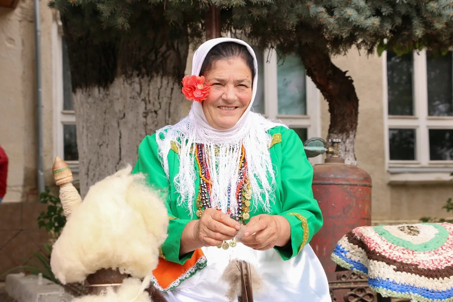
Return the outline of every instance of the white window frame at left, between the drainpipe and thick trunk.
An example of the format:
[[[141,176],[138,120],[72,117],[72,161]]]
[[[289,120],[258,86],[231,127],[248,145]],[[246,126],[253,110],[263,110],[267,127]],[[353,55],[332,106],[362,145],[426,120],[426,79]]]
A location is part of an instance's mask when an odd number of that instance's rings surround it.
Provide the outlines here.
[[[52,23],[52,59],[53,59],[53,155],[64,160],[64,125],[75,125],[74,110],[63,110],[63,24],[60,14],[54,14]],[[78,160],[65,160],[72,170],[78,173]]]

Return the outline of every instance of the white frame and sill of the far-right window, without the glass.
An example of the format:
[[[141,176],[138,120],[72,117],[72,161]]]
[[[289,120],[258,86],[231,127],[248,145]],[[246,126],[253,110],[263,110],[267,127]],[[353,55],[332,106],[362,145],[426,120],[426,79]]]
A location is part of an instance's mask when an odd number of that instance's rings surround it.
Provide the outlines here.
[[[453,160],[429,159],[429,129],[453,129],[453,116],[428,116],[428,82],[426,50],[413,53],[412,93],[414,115],[388,114],[387,52],[382,54],[383,100],[384,100],[384,146],[386,167],[399,181],[443,181],[449,180],[448,172],[453,171]],[[389,129],[414,129],[415,160],[390,160]],[[419,174],[414,177],[407,174]],[[422,175],[424,174],[424,175]],[[392,181],[392,177],[390,182]]]

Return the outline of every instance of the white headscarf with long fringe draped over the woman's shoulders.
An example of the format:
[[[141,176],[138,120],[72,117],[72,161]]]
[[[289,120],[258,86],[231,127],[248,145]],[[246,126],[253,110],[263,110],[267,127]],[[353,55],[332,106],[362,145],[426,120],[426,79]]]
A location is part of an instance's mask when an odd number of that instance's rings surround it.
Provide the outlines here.
[[[179,172],[173,181],[176,192],[180,194],[178,206],[187,207],[193,215],[196,196],[194,183],[197,172],[194,167],[194,146],[204,145],[204,155],[209,158],[209,174],[212,181],[210,200],[213,208],[226,212],[228,204],[227,188],[236,192],[238,166],[241,158],[241,145],[246,150],[248,174],[252,189],[253,208],[261,207],[270,212],[270,201],[275,198],[275,174],[270,159],[269,147],[272,141],[267,131],[280,123],[266,120],[263,116],[250,111],[255,99],[258,78],[258,63],[253,49],[244,41],[234,38],[216,38],[203,43],[195,52],[192,62],[192,75],[199,76],[207,53],[212,47],[223,42],[235,42],[245,45],[253,57],[255,77],[253,78],[252,98],[246,111],[230,129],[220,130],[208,124],[202,104],[193,101],[189,115],[174,126],[157,130],[156,141],[159,146],[159,158],[169,178],[168,153],[172,144],[178,144]],[[192,147],[192,148],[191,148]],[[235,194],[231,194],[230,208],[236,212]]]

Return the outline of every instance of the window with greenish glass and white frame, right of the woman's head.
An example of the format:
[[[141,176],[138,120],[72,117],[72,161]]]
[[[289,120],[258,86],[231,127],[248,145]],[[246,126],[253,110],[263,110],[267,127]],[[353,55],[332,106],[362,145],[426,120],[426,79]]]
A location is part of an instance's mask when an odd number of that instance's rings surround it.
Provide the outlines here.
[[[319,91],[306,75],[302,60],[275,50],[253,48],[258,60],[258,91],[253,110],[270,120],[281,120],[304,142],[320,136]],[[318,163],[321,157],[310,159]]]

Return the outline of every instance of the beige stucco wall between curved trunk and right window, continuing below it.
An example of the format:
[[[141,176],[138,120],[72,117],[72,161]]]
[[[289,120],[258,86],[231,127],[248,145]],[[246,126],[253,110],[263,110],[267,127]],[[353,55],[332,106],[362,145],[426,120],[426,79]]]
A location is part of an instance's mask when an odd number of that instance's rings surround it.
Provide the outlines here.
[[[373,223],[416,222],[423,216],[438,218],[447,215],[442,206],[453,197],[453,182],[439,184],[389,184],[384,145],[383,60],[377,55],[367,57],[352,49],[333,62],[354,80],[359,98],[359,120],[356,137],[357,166],[370,173]],[[322,100],[322,133],[327,137],[328,104]]]

